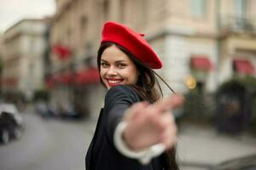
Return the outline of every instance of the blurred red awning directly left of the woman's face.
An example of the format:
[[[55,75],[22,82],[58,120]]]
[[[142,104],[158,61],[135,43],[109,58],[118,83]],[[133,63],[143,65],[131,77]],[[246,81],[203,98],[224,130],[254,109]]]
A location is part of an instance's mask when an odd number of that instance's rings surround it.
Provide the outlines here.
[[[77,85],[85,85],[100,81],[99,71],[96,68],[85,69],[77,73],[74,82]]]

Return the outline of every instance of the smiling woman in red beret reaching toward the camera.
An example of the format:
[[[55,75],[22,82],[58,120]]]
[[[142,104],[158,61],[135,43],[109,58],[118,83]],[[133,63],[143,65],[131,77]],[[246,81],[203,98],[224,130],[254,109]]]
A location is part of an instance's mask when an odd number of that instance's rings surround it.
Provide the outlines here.
[[[152,69],[162,63],[143,35],[107,22],[97,65],[108,93],[87,151],[86,169],[178,169],[177,130],[168,110],[181,105],[183,98],[160,99]]]

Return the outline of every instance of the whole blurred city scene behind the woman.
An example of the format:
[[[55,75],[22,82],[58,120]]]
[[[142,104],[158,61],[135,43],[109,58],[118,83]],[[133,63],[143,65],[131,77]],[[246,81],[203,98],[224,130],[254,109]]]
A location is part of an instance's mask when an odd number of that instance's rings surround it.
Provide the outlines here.
[[[107,20],[145,34],[164,64],[157,72],[185,95],[175,111],[181,169],[256,155],[255,8],[253,0],[0,0],[1,169],[85,169],[106,93],[96,51]]]

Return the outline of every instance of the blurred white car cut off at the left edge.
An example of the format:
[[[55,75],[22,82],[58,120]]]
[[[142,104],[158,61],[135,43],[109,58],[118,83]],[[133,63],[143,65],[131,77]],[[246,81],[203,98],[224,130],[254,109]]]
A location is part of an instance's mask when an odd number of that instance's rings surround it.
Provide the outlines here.
[[[13,104],[0,104],[0,142],[7,144],[22,133],[22,117]]]

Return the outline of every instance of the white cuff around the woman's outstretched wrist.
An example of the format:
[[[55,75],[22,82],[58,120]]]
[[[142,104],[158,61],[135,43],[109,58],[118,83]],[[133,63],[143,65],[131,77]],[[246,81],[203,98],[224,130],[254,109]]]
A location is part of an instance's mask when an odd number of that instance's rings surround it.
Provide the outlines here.
[[[137,159],[141,163],[148,164],[152,158],[156,156],[160,156],[165,150],[166,147],[164,144],[154,144],[147,149],[134,151],[131,150],[126,144],[124,139],[122,138],[122,133],[127,126],[127,122],[119,122],[113,134],[113,143],[117,150],[124,156]]]

